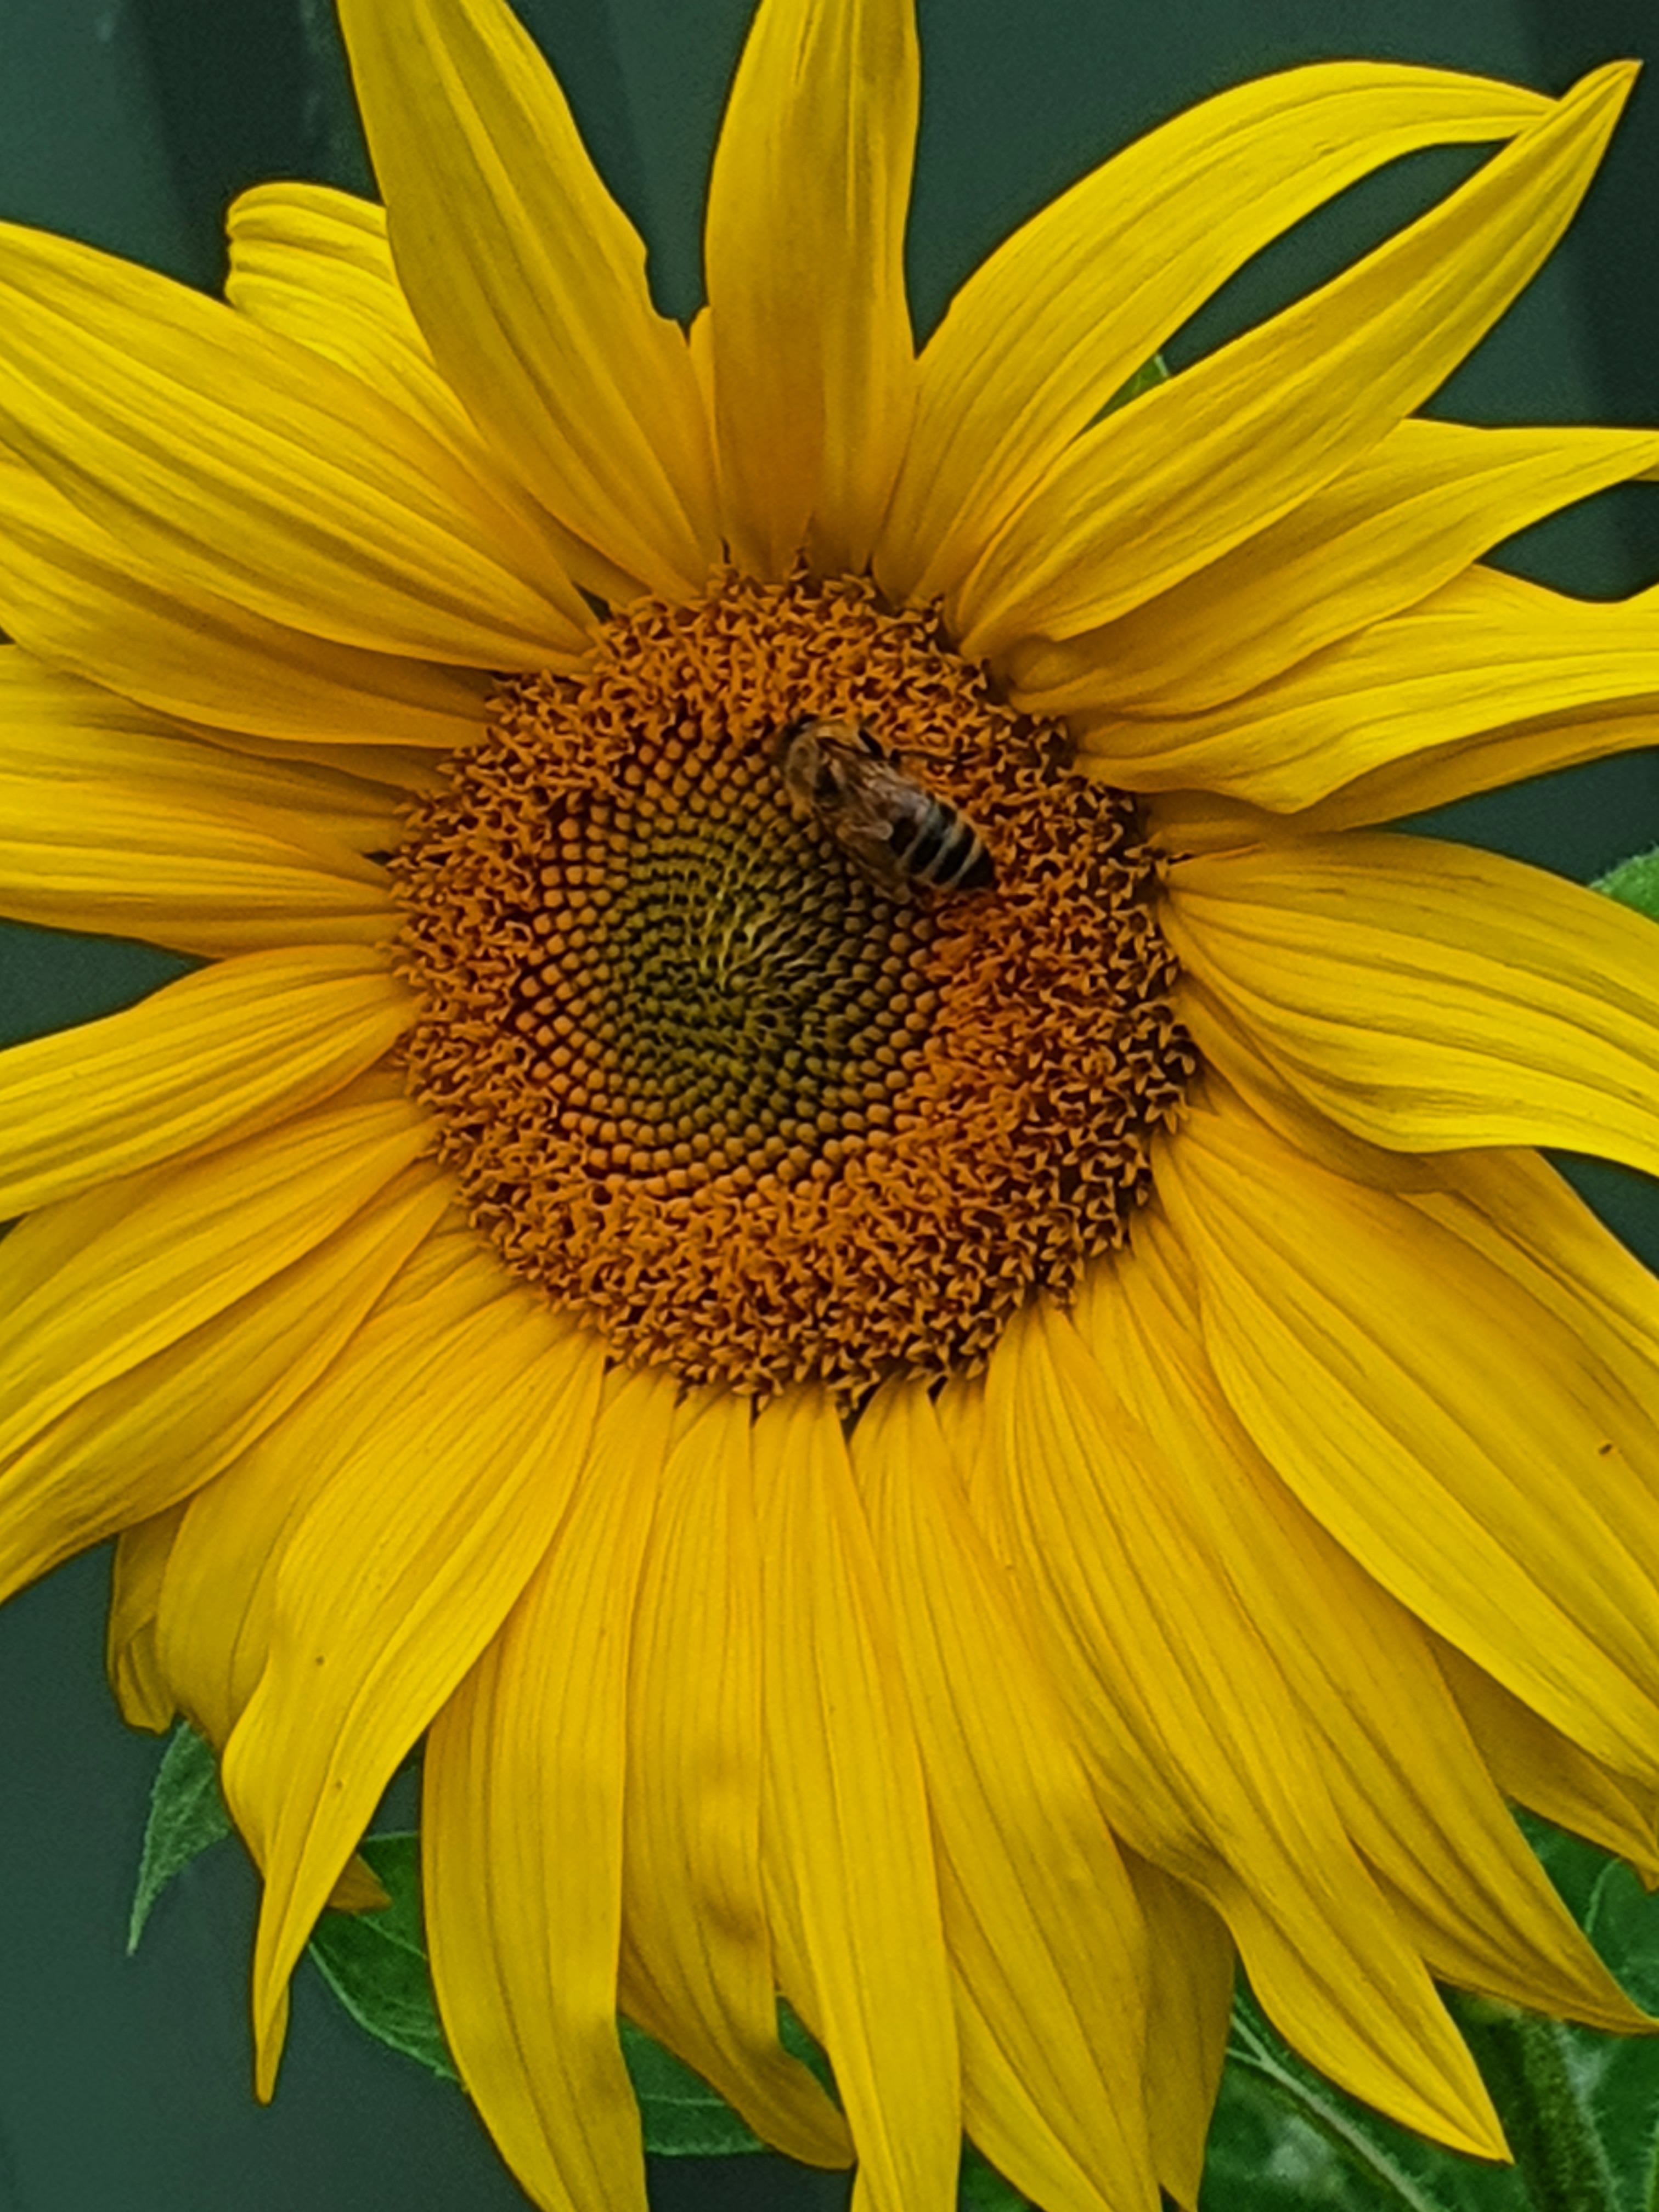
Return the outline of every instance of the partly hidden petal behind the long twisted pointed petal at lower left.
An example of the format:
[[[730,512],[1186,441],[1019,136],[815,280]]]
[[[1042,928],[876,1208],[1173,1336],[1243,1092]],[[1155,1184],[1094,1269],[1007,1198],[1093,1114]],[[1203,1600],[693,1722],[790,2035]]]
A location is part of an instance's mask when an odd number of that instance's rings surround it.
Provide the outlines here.
[[[157,1655],[179,1705],[215,1743],[230,1741],[265,1670],[276,1571],[341,1453],[367,1449],[429,1345],[502,1287],[502,1265],[476,1230],[438,1228],[367,1318],[345,1316],[334,1358],[288,1416],[190,1500],[161,1584]]]

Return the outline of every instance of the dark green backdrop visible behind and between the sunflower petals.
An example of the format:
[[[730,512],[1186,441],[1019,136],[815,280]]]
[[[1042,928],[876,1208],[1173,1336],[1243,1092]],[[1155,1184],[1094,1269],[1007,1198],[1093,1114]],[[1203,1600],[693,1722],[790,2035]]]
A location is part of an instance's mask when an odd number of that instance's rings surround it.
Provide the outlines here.
[[[394,0],[385,0],[394,4]],[[608,181],[646,230],[661,303],[697,303],[708,153],[750,0],[538,0]],[[1557,93],[1659,49],[1655,0],[922,0],[911,228],[920,327],[1013,223],[1102,155],[1243,75],[1396,55]],[[1402,164],[1228,288],[1179,365],[1316,281],[1475,157]],[[274,175],[363,186],[327,0],[0,0],[0,215],[204,285],[226,199]],[[1467,420],[1659,420],[1659,95],[1637,88],[1568,246],[1436,400]],[[1546,582],[1617,595],[1659,575],[1659,502],[1626,491],[1506,549]],[[1546,779],[1460,816],[1573,876],[1659,841],[1650,757]],[[86,1020],[177,962],[9,929],[0,1037]],[[1593,1188],[1648,1259],[1652,1192]],[[102,1681],[106,1557],[0,1610],[0,2212],[504,2212],[524,2199],[462,2097],[349,2028],[303,1966],[276,2104],[250,2097],[252,1878],[234,1847],[122,1955],[157,1750]],[[659,2208],[836,2205],[845,2181],[776,2161],[653,2174]]]

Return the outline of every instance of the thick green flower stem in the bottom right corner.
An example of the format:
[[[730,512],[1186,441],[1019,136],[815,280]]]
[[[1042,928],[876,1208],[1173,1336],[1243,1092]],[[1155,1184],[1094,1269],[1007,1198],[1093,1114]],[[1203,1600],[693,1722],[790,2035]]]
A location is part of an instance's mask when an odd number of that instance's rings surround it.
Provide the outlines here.
[[[1613,2168],[1566,2028],[1489,1997],[1458,1997],[1453,2008],[1535,2212],[1617,2212]]]

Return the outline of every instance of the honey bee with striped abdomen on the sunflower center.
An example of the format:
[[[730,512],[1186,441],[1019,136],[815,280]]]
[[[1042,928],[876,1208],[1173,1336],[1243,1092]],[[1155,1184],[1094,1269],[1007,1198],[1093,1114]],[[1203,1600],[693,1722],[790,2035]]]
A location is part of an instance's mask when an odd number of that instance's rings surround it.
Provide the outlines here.
[[[790,810],[818,821],[883,885],[989,891],[995,863],[973,823],[905,774],[860,723],[805,714],[779,732]]]

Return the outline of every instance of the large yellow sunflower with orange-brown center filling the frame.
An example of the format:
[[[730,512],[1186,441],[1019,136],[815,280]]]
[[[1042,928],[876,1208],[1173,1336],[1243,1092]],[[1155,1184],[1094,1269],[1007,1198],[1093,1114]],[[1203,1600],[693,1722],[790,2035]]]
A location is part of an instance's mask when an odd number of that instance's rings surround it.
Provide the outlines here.
[[[341,15],[385,206],[0,232],[0,898],[204,962],[0,1062],[4,1588],[119,1535],[261,2095],[425,1734],[546,2208],[644,2203],[617,2011],[872,2208],[1190,2205],[1239,1962],[1502,2157],[1436,1978],[1644,2024],[1506,1801],[1659,1874],[1659,1292],[1531,1150],[1659,1168],[1659,987],[1378,825],[1652,734],[1652,599],[1482,553],[1659,436],[1413,414],[1632,71],[1245,84],[918,354],[909,0],[761,0],[690,330],[500,0]]]

